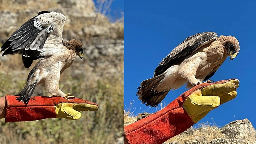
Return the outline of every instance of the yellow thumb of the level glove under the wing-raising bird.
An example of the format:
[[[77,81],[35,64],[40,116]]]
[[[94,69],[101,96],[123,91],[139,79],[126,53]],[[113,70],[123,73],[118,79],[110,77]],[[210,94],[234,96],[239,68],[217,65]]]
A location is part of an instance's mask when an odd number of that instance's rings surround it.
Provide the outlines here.
[[[72,120],[77,120],[81,117],[81,113],[74,110],[72,107],[74,104],[72,103],[63,103],[63,110],[66,114],[68,114],[68,118],[72,118]]]

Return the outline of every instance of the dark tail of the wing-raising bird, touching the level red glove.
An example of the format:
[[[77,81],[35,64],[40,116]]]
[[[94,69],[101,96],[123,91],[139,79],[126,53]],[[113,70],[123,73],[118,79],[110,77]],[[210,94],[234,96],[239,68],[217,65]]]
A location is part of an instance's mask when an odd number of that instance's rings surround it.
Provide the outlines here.
[[[27,104],[31,98],[31,96],[33,95],[34,91],[35,91],[35,87],[37,87],[37,83],[38,81],[36,80],[35,83],[30,84],[30,85],[26,85],[23,90],[21,90],[20,93],[18,93],[15,96],[19,96],[16,98],[16,100],[18,101],[22,101],[23,103]]]

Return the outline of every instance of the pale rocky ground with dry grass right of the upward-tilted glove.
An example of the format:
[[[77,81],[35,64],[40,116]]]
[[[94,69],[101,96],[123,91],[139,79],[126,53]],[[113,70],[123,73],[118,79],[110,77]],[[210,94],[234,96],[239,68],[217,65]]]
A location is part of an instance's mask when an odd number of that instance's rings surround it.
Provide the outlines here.
[[[219,135],[213,135],[214,133]],[[213,139],[207,141],[206,137],[209,135],[212,135]],[[172,141],[165,144],[256,144],[256,130],[248,119],[230,122],[222,128],[206,127],[194,130],[191,127],[178,136],[191,140],[184,143]]]

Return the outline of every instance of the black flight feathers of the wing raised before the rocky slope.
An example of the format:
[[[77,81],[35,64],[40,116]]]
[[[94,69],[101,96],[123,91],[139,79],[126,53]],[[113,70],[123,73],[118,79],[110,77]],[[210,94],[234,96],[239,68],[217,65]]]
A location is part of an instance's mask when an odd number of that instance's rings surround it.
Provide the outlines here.
[[[38,15],[43,13],[50,12],[43,11],[39,12]],[[50,32],[53,31],[54,24],[43,26],[41,23],[39,23],[40,20],[36,17],[37,16],[29,19],[18,30],[13,32],[10,38],[1,47],[1,52],[4,51],[2,56],[5,54],[20,53],[26,54],[23,55],[25,57],[39,57],[40,53],[33,51],[41,51],[43,49],[43,45],[46,42],[46,39],[50,35]],[[38,25],[36,25],[37,23],[35,22],[37,22]],[[35,39],[38,40],[33,45]]]

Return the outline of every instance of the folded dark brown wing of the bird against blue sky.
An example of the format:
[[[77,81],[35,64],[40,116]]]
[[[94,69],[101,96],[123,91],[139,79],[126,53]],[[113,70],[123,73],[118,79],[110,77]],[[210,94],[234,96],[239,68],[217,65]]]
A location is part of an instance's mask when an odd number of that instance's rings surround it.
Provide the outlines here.
[[[164,73],[172,65],[183,61],[185,57],[203,45],[212,43],[216,38],[215,32],[202,32],[189,36],[159,63],[154,71],[154,77]]]

